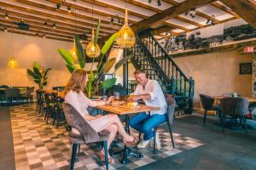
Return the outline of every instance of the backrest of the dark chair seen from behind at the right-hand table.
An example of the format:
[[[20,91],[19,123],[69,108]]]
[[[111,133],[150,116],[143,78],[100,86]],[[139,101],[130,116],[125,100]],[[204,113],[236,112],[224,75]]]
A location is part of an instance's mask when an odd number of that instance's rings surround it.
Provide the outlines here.
[[[240,97],[220,99],[220,108],[224,115],[245,116],[248,113],[249,101]]]

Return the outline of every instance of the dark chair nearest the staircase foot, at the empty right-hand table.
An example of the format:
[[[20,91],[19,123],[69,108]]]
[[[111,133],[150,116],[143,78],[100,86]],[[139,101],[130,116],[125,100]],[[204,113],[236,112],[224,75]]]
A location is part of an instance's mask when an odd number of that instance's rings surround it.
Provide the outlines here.
[[[204,126],[206,126],[206,121],[207,121],[207,111],[217,111],[219,120],[222,122],[222,116],[221,116],[221,110],[218,105],[213,105],[214,99],[211,96],[205,95],[205,94],[199,94],[200,99],[201,99],[201,105],[205,110],[204,118],[203,118],[203,123]]]

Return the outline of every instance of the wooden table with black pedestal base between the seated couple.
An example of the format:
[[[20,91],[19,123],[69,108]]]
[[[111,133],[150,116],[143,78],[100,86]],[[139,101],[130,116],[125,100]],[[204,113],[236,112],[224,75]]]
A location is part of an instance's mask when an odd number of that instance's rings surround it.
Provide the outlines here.
[[[145,112],[145,111],[149,112],[149,111],[160,110],[159,107],[153,107],[153,106],[148,106],[148,105],[137,105],[136,108],[122,106],[122,105],[119,105],[119,106],[98,105],[98,106],[96,106],[96,108],[100,109],[102,111],[112,112],[117,115],[124,115],[125,116],[125,131],[126,131],[126,133],[130,133],[129,120],[130,120],[131,114]],[[123,158],[121,160],[121,163],[123,163],[123,164],[127,163],[128,156],[135,156],[137,158],[143,158],[143,154],[131,151],[131,149],[127,146],[125,146],[125,148],[123,150],[121,150],[118,154],[120,154],[120,153],[123,155]]]

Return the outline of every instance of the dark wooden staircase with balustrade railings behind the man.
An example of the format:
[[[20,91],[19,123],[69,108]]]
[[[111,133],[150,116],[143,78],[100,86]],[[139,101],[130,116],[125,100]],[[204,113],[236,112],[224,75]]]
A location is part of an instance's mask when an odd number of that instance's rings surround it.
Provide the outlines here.
[[[183,74],[150,30],[137,34],[136,45],[129,53],[133,55],[131,63],[136,69],[143,69],[150,79],[158,81],[164,94],[175,95],[178,110],[192,112],[194,80]]]

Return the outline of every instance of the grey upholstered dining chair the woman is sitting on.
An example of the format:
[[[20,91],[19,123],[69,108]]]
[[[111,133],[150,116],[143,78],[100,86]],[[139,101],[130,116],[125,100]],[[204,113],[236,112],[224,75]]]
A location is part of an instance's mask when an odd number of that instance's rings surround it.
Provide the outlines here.
[[[73,144],[70,169],[73,170],[78,144],[103,142],[106,169],[108,170],[108,132],[102,131],[97,133],[72,105],[63,102],[62,107],[67,124],[72,127],[72,130],[68,133],[68,139],[70,143]],[[78,133],[74,133],[75,131],[73,131],[73,129],[76,129]]]

